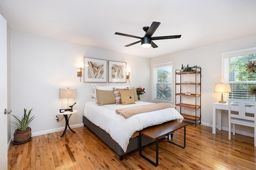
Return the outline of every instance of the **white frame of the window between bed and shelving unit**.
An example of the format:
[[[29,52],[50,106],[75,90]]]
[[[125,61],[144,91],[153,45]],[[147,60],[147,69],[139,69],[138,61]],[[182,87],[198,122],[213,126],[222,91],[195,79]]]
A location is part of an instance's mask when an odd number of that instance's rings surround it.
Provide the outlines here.
[[[169,88],[171,87],[171,100],[161,100],[161,99],[155,99],[155,90],[157,89],[157,87],[155,88],[155,83],[154,83],[154,68],[160,68],[160,67],[164,67],[164,66],[171,66],[171,76],[172,76],[172,81],[168,82],[168,84],[171,84],[169,86]],[[157,94],[157,93],[156,93]],[[152,65],[152,101],[154,102],[167,102],[167,103],[172,103],[173,102],[173,62],[166,62],[166,63],[160,63],[160,64],[153,64]]]

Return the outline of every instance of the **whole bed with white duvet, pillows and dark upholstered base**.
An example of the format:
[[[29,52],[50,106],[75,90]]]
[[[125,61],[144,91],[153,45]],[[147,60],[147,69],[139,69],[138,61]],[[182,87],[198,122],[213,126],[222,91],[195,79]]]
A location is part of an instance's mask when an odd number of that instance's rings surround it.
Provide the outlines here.
[[[143,113],[129,115],[129,117],[118,114],[118,111],[122,109],[133,108],[137,110],[138,107],[150,108],[158,105],[138,101],[134,98],[136,89],[130,89],[129,86],[126,87],[127,85],[110,84],[99,87],[93,85],[95,94],[91,95],[93,98],[91,102],[86,102],[83,115],[84,126],[87,126],[112,148],[119,155],[120,160],[124,154],[139,148],[138,131],[167,121],[182,122],[184,119],[175,107],[148,112],[142,111]],[[115,92],[117,87],[119,91]],[[124,94],[128,95],[124,97]],[[111,101],[112,95],[114,99]],[[142,141],[142,146],[144,146],[155,140],[142,136]]]

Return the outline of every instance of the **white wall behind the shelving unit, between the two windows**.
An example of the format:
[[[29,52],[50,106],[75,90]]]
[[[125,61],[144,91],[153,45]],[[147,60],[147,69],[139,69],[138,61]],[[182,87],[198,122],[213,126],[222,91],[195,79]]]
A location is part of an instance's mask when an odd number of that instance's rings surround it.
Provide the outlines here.
[[[189,64],[189,66],[197,65],[202,68],[202,124],[209,126],[212,123],[212,103],[218,102],[221,99],[221,96],[218,93],[214,92],[214,86],[215,84],[221,83],[222,53],[252,47],[256,47],[256,35],[191,49],[180,53],[156,57],[151,59],[151,65],[173,61],[174,72],[176,69],[180,69],[182,64],[183,66],[186,66],[187,64]],[[175,74],[173,74],[173,76],[175,77]],[[175,84],[175,78],[173,78],[173,81],[173,83]],[[152,80],[150,82],[152,84]],[[227,114],[223,115],[222,117],[222,126],[228,127]]]

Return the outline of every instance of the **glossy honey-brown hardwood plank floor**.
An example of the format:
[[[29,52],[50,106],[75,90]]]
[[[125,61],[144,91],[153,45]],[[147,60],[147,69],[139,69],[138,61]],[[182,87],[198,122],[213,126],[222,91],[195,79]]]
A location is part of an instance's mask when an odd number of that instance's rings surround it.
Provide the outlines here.
[[[159,140],[159,165],[155,167],[139,156],[139,150],[119,156],[87,127],[74,128],[76,133],[63,131],[32,137],[28,143],[11,144],[8,149],[9,170],[148,170],[148,169],[196,169],[236,170],[256,169],[256,147],[254,138],[232,135],[227,131],[216,131],[204,125],[186,127],[186,148],[182,149],[166,140]],[[181,139],[181,140],[179,140]],[[183,128],[174,133],[174,142],[182,145]],[[146,145],[142,153],[155,160],[155,143]]]

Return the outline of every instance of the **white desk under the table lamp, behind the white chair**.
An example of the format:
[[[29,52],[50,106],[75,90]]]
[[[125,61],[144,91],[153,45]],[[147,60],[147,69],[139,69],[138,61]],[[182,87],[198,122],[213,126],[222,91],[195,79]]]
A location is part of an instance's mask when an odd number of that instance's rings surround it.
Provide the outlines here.
[[[237,107],[238,106],[232,106]],[[253,113],[254,107],[246,107],[246,113]],[[228,110],[228,102],[212,104],[212,134],[216,134],[216,109],[218,110],[218,130],[221,130],[221,110]]]

